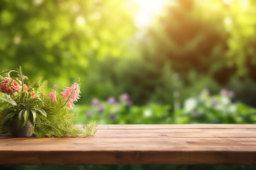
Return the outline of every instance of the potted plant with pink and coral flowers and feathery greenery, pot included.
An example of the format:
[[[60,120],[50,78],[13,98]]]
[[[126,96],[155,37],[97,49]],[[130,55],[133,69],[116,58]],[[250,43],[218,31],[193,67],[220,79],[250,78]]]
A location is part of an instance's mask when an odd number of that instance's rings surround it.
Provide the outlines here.
[[[42,77],[30,82],[21,67],[2,71],[0,81],[0,133],[16,137],[86,137],[96,132],[97,120],[90,126],[83,125],[83,129],[73,123],[76,115],[70,110],[80,99],[80,78],[61,93],[56,84],[49,89]]]

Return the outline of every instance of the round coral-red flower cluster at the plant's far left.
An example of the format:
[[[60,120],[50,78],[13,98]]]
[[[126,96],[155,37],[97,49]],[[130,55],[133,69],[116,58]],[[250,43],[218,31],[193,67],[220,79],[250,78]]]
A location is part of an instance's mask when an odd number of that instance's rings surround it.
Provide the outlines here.
[[[20,91],[21,87],[15,80],[13,80],[13,82],[9,86],[10,82],[11,78],[5,77],[4,80],[0,83],[0,91],[2,93],[8,94],[11,91]]]

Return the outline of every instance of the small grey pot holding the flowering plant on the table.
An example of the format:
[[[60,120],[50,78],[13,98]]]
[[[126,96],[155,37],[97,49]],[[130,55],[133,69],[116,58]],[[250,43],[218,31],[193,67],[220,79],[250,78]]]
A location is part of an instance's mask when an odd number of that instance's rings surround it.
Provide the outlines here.
[[[12,127],[12,135],[15,137],[31,137],[33,135],[34,127],[29,120],[27,120],[25,126],[18,126],[18,115],[13,116]]]

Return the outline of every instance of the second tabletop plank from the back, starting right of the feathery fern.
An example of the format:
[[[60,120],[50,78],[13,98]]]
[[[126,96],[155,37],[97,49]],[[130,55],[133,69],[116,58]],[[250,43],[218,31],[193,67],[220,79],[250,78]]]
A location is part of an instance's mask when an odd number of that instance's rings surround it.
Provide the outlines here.
[[[106,129],[96,137],[256,137],[256,129]]]

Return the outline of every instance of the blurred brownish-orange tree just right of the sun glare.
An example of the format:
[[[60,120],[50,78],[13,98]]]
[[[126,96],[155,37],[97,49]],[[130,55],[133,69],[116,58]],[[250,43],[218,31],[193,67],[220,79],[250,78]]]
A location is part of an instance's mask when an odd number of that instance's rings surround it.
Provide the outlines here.
[[[171,62],[175,72],[180,73],[186,81],[186,75],[191,70],[198,73],[215,75],[220,83],[228,82],[231,73],[218,71],[227,62],[228,34],[223,31],[224,26],[219,23],[223,16],[218,14],[211,18],[201,17],[199,4],[191,0],[180,0],[177,5],[169,6],[159,20],[159,26],[149,31],[148,35],[155,36],[163,61]],[[209,15],[209,14],[208,14]],[[158,29],[162,29],[167,36],[159,36]],[[234,69],[232,69],[234,73]],[[223,79],[225,77],[225,79]],[[188,83],[188,82],[187,82]]]

